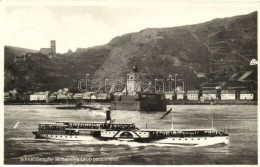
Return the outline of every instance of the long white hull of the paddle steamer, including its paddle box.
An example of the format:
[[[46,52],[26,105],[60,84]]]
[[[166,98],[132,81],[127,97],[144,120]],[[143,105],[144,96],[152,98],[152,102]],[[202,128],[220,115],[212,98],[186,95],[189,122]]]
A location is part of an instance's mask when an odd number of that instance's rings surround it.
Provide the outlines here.
[[[44,134],[33,132],[35,139],[46,140],[63,140],[63,141],[127,141],[127,142],[140,142],[140,143],[155,143],[155,144],[173,144],[173,145],[215,145],[215,144],[229,144],[229,136],[208,136],[208,137],[164,137],[153,138],[151,136],[122,136],[122,134],[145,134],[145,131],[103,131],[99,136],[93,135],[66,135],[66,134]],[[112,134],[112,135],[102,135]],[[117,135],[116,135],[117,134]]]

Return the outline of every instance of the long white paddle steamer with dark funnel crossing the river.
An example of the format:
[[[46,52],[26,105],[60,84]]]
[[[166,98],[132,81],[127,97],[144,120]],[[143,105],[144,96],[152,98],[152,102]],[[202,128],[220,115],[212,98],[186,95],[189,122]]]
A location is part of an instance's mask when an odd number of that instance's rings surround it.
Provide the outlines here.
[[[56,122],[39,124],[35,139],[81,141],[135,141],[180,145],[229,144],[229,134],[216,129],[139,129],[135,124],[111,122],[106,111],[105,122]]]

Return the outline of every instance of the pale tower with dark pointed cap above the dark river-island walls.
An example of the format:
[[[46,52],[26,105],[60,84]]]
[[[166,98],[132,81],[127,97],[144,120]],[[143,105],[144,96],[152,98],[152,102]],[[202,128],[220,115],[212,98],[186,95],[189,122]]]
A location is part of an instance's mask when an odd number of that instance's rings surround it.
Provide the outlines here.
[[[137,67],[134,65],[133,72],[127,74],[127,94],[136,95],[138,91],[141,91],[140,75],[137,73]]]

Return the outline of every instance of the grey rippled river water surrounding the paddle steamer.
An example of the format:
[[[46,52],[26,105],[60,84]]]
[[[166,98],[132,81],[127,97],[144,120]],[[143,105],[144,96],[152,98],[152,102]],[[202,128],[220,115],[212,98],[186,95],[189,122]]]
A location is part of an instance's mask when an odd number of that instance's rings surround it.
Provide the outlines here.
[[[228,128],[229,145],[173,146],[135,142],[34,140],[27,132],[38,123],[56,121],[97,121],[102,110],[58,110],[53,105],[5,106],[5,164],[257,164],[257,106],[255,105],[176,105],[176,129]],[[164,112],[111,111],[117,123],[135,123],[139,128],[171,128],[171,114]],[[16,121],[21,122],[14,129]],[[26,128],[24,128],[24,125]]]

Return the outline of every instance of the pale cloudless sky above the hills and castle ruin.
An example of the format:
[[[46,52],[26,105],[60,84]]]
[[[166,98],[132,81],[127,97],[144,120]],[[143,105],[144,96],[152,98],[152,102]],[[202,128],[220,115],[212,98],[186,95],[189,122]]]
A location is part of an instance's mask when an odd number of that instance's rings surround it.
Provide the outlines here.
[[[255,3],[255,4],[254,4]],[[58,53],[108,43],[146,28],[176,27],[257,11],[256,2],[5,5],[4,45]]]

